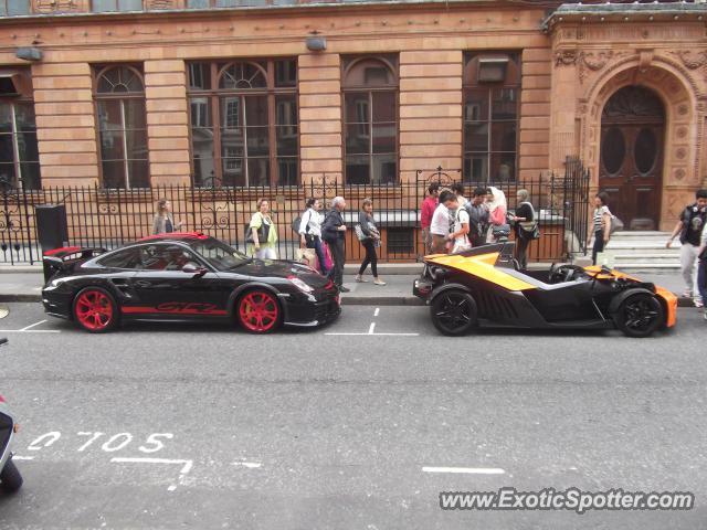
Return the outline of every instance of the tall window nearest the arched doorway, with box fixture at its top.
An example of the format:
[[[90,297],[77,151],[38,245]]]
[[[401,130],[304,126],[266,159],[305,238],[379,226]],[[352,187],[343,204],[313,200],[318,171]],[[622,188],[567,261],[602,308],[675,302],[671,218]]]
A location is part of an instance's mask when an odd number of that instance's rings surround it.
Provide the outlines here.
[[[518,171],[517,53],[469,53],[464,62],[464,180],[514,181]]]

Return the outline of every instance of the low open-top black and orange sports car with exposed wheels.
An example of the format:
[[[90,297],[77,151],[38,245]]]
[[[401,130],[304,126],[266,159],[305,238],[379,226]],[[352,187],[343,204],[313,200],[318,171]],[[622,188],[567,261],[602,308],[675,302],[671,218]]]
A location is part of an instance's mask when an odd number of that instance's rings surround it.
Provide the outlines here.
[[[413,294],[432,322],[458,336],[479,325],[535,329],[614,329],[647,337],[675,326],[673,293],[603,267],[519,271],[514,243],[425,256]]]

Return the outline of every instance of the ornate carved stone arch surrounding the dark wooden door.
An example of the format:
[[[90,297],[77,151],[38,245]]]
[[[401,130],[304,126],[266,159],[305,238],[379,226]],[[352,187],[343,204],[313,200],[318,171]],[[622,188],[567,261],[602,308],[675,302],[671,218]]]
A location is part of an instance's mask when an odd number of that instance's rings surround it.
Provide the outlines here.
[[[700,184],[704,108],[696,81],[672,59],[641,54],[622,59],[610,65],[588,86],[580,99],[580,156],[591,170],[594,187],[599,179],[601,117],[604,105],[619,89],[627,85],[645,86],[665,106],[665,144],[663,166],[664,220],[679,213],[688,190]],[[663,223],[663,229],[668,222]]]

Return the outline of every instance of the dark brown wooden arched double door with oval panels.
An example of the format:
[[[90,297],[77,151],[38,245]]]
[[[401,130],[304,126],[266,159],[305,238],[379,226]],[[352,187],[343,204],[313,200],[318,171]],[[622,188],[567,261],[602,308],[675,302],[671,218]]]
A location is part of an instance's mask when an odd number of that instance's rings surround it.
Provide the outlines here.
[[[626,230],[656,230],[661,221],[665,107],[643,86],[624,86],[601,117],[599,188]]]

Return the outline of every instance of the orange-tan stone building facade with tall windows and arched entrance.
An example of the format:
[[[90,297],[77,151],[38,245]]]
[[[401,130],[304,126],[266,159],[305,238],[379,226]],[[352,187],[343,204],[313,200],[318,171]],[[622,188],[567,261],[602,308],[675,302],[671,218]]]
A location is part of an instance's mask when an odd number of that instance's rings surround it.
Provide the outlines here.
[[[707,183],[701,3],[3,2],[15,186],[523,181],[579,156],[665,230]]]

